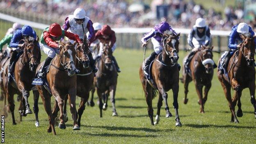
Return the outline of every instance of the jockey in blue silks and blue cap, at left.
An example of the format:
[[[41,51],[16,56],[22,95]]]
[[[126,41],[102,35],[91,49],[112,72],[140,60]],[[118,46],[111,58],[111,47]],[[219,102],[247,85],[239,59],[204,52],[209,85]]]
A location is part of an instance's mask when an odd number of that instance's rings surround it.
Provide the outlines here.
[[[14,60],[16,60],[16,55],[18,54],[17,50],[25,45],[25,43],[20,43],[20,41],[26,38],[37,39],[37,33],[29,25],[24,25],[22,28],[16,30],[11,38],[9,46],[10,48],[12,48],[13,52],[11,53],[11,59],[8,67],[8,75],[13,73],[14,71]]]

